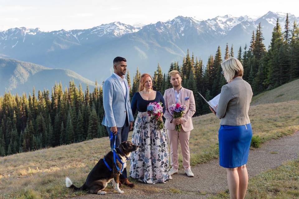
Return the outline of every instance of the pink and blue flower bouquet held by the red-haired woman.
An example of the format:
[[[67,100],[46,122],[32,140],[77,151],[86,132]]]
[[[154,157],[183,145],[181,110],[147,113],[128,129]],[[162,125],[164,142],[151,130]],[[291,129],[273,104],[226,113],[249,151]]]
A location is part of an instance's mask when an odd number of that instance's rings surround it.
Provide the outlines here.
[[[163,107],[162,102],[151,102],[147,105],[147,113],[151,119],[156,119],[159,130],[163,129],[164,123],[162,119]]]

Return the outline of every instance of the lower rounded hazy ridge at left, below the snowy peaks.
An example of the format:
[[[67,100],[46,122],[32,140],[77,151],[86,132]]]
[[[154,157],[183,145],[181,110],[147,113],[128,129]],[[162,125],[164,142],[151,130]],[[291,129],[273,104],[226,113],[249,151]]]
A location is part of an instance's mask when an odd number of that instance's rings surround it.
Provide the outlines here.
[[[63,89],[69,86],[69,81],[73,81],[82,89],[86,86],[93,90],[95,83],[79,74],[67,69],[53,69],[41,65],[21,62],[14,59],[0,58],[0,95],[5,92],[22,95],[31,93],[35,87],[36,93],[38,90],[49,90],[54,87],[55,82],[61,83]]]

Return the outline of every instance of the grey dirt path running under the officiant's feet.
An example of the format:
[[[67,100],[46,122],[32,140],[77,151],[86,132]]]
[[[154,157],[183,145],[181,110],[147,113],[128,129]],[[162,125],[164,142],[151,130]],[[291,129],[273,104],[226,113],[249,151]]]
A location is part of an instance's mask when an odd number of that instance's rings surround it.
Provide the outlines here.
[[[249,151],[247,169],[249,178],[260,172],[273,169],[286,160],[293,160],[299,154],[299,132],[291,136],[285,136],[277,140],[264,143],[261,148]],[[209,193],[216,193],[228,189],[225,168],[219,166],[219,160],[212,160],[206,164],[192,167],[194,178],[183,174],[183,169],[173,175],[173,179],[166,184],[144,184],[136,182],[135,188],[121,187],[124,194],[117,194],[108,189],[103,196],[88,194],[73,199],[83,198],[206,198]]]

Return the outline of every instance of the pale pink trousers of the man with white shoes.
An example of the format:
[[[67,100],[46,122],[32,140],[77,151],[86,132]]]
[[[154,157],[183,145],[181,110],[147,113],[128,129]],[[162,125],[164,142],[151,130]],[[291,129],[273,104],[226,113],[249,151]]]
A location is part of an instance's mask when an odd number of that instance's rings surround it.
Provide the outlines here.
[[[189,151],[189,137],[190,131],[181,132],[175,130],[166,130],[168,135],[168,141],[170,145],[170,164],[174,169],[178,169],[178,141],[180,141],[183,155],[183,167],[184,169],[190,168],[190,151]]]

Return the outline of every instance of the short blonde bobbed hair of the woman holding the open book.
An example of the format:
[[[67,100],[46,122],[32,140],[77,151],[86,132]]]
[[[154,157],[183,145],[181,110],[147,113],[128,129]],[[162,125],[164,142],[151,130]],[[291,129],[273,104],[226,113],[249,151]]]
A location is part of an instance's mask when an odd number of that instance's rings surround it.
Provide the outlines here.
[[[231,57],[224,62],[221,63],[222,70],[225,73],[225,80],[230,82],[232,79],[235,77],[242,77],[244,73],[243,66],[241,62],[234,58]]]

